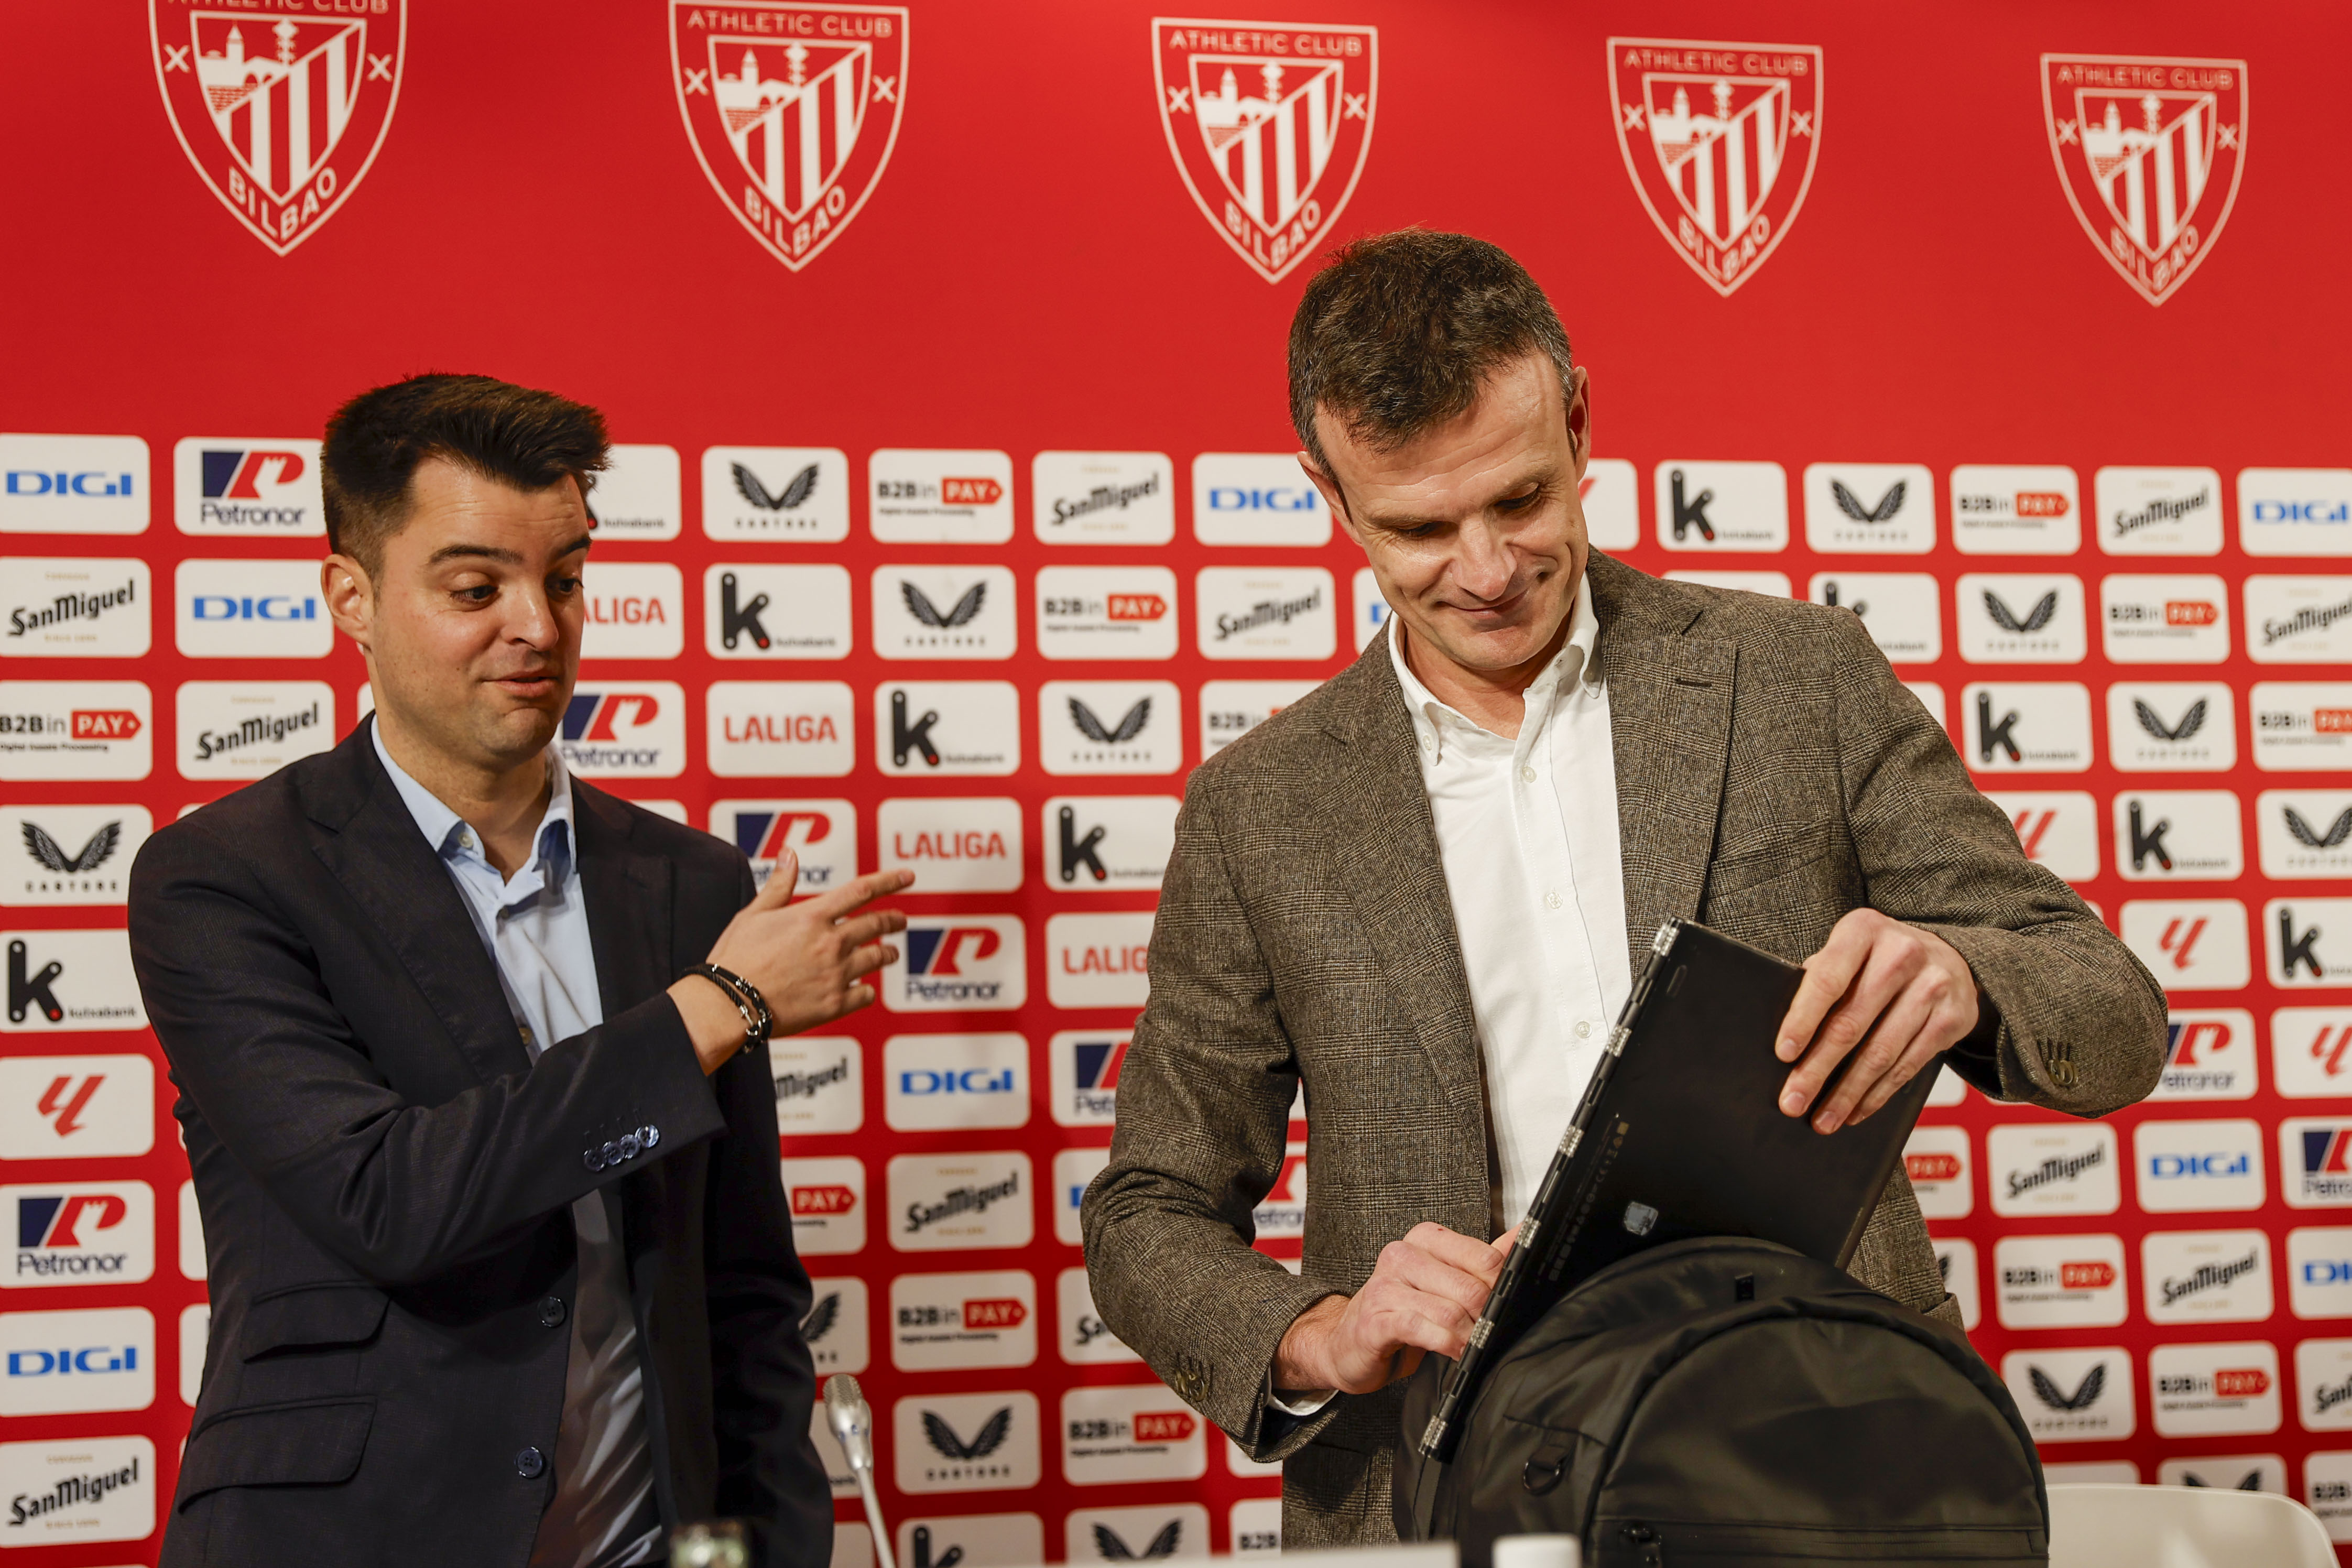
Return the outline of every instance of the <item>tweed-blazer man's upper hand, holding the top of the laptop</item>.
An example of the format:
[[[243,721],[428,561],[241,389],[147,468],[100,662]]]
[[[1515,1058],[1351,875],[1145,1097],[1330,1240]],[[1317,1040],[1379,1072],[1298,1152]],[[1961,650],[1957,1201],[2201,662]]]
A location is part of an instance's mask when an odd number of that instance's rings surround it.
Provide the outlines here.
[[[1804,983],[1780,1020],[1780,1060],[1797,1063],[1780,1112],[1802,1117],[1837,1063],[1853,1056],[1837,1093],[1813,1112],[1813,1131],[1835,1133],[1886,1105],[1973,1030],[1969,959],[1933,931],[1853,910],[1804,961]]]

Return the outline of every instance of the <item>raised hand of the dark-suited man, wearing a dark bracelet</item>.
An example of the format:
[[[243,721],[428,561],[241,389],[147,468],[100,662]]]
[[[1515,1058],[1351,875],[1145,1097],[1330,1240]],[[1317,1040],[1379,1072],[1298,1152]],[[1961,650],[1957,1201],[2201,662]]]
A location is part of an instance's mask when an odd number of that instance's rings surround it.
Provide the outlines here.
[[[906,931],[906,914],[866,905],[906,889],[915,872],[875,872],[793,903],[797,882],[800,856],[786,851],[767,884],[736,910],[710,947],[713,964],[743,976],[767,997],[776,1039],[833,1023],[875,999],[866,976],[898,957],[882,938]],[[687,1020],[706,1074],[743,1048],[743,1016],[717,985],[684,976],[670,987],[670,997]]]

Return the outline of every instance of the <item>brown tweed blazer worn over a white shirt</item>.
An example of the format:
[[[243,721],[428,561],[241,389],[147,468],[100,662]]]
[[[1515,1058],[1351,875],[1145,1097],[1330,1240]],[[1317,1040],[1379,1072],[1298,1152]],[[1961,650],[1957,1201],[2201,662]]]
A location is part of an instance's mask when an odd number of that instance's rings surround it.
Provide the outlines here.
[[[1670,914],[1788,959],[1872,905],[1952,943],[1999,1011],[1978,1088],[2098,1117],[2164,1063],[2164,992],[1999,806],[1846,611],[1665,583],[1592,557],[1635,971]],[[1482,1060],[1411,717],[1388,649],[1202,764],[1185,788],[1084,1201],[1103,1321],[1258,1460],[1282,1544],[1392,1535],[1397,1387],[1263,1422],[1284,1328],[1357,1291],[1421,1220],[1491,1237]],[[1955,1060],[1955,1065],[1962,1065]],[[1251,1251],[1305,1084],[1298,1276]],[[1898,1168],[1853,1260],[1957,1326]]]

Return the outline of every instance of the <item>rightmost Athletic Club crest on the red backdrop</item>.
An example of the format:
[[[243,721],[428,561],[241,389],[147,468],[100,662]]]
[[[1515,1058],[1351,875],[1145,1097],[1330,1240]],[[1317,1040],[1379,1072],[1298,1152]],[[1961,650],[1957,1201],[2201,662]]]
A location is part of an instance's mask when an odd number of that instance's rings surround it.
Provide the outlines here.
[[[2044,54],[2042,120],[2082,230],[2161,306],[2237,202],[2246,61]]]

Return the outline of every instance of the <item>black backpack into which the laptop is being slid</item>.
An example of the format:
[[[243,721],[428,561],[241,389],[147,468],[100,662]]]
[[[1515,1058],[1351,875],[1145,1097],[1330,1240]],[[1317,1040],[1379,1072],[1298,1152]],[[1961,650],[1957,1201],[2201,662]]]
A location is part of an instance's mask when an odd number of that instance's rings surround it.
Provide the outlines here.
[[[1451,1465],[1404,1399],[1404,1540],[1583,1540],[1585,1568],[2049,1563],[2042,1460],[1969,1340],[1771,1241],[1609,1265],[1543,1314],[1470,1406]]]

